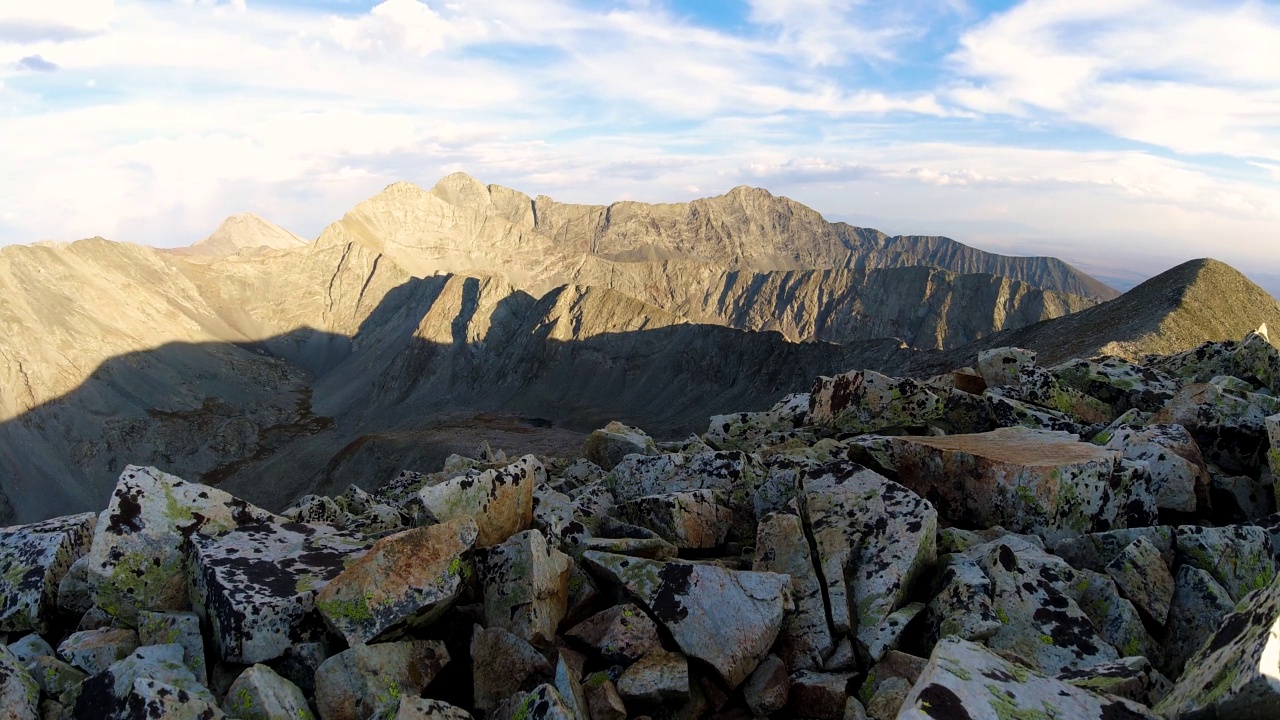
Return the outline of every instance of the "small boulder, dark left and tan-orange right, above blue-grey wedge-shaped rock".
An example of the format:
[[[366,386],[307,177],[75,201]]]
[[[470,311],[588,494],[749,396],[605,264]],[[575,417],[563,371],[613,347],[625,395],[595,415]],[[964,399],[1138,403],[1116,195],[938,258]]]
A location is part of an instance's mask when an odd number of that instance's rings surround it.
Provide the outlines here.
[[[618,511],[628,523],[649,528],[678,548],[717,547],[733,524],[733,512],[709,489],[637,497]]]

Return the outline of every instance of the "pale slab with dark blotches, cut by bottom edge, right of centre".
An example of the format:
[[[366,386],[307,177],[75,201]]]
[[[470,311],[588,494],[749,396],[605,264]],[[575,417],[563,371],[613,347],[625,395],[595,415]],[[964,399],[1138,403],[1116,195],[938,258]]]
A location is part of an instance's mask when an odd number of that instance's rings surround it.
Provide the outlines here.
[[[980,644],[945,638],[897,720],[1158,720],[1146,707],[1041,676]]]

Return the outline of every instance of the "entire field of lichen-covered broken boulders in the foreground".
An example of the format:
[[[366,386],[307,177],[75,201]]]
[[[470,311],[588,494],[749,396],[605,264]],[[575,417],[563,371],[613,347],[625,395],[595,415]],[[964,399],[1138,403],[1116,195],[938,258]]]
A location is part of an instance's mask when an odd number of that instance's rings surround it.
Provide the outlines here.
[[[1280,716],[1266,329],[977,360],[280,515],[129,466],[0,529],[0,719]]]

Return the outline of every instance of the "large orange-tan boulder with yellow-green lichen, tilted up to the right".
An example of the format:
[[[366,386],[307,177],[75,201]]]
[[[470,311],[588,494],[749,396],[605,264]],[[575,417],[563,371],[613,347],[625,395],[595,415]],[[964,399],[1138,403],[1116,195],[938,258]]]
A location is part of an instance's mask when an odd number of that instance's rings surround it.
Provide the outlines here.
[[[348,644],[425,626],[466,591],[479,529],[462,518],[385,537],[319,589],[315,606]]]

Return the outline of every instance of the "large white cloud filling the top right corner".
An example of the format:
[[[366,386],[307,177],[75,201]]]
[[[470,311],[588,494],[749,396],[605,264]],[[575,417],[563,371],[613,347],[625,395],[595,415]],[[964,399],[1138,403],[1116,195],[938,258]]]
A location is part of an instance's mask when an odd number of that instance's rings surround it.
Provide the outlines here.
[[[1280,159],[1280,9],[1028,0],[965,33],[950,97],[1184,154]]]

